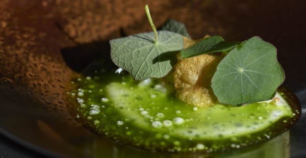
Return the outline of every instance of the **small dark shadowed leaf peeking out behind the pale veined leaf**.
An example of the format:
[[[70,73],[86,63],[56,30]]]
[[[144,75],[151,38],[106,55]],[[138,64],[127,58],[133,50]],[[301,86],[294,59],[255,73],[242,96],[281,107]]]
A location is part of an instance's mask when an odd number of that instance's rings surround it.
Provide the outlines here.
[[[159,30],[170,31],[174,33],[181,34],[185,37],[190,38],[190,35],[187,32],[185,24],[173,19],[168,19]]]

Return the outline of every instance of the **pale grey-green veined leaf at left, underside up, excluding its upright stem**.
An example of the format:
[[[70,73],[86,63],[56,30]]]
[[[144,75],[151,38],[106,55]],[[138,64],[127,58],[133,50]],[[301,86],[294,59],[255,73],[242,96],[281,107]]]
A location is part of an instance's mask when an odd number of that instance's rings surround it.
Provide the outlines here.
[[[159,31],[158,37],[156,44],[154,32],[110,40],[111,59],[118,67],[127,70],[135,80],[161,78],[176,63],[173,51],[183,48],[183,36]]]

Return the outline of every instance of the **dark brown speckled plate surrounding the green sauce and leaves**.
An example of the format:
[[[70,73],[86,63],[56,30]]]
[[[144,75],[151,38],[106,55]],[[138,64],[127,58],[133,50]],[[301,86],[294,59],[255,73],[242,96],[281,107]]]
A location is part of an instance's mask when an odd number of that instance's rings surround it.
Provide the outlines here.
[[[138,1],[1,1],[0,132],[50,156],[168,157],[96,136],[75,122],[67,108],[71,78],[109,53],[109,39],[150,31],[144,5]],[[179,20],[194,39],[210,34],[243,41],[256,35],[273,43],[286,72],[284,86],[302,105],[301,118],[290,129],[290,155],[306,156],[305,2],[154,1],[148,5],[156,25],[169,17]],[[286,135],[273,140],[274,145],[272,141],[221,155],[246,156],[266,146],[278,147],[275,142],[286,144]]]

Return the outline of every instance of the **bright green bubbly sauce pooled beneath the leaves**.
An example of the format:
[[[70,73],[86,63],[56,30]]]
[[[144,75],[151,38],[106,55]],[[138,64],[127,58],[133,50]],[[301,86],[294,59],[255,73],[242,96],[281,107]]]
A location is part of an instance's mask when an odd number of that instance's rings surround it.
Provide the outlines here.
[[[112,71],[114,72],[114,71]],[[292,108],[280,102],[242,107],[188,106],[161,79],[134,81],[104,73],[78,78],[71,93],[72,114],[95,133],[119,143],[158,151],[215,152],[242,148],[283,133],[293,122]]]

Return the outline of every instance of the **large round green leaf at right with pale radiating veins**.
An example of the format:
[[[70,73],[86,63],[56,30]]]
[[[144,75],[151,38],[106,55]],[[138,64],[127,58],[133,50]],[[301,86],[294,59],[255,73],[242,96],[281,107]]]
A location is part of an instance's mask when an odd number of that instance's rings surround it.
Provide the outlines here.
[[[271,99],[284,80],[276,48],[259,37],[252,37],[232,49],[219,63],[212,89],[221,103],[240,106]]]

